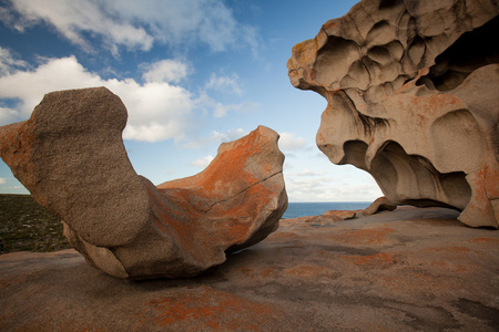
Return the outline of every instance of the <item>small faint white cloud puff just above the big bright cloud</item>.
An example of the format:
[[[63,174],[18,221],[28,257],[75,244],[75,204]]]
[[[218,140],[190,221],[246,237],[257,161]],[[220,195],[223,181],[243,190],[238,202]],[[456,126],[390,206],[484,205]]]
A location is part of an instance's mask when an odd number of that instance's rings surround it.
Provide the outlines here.
[[[187,65],[181,61],[164,59],[143,65],[146,72],[142,75],[145,82],[179,83],[187,76]]]

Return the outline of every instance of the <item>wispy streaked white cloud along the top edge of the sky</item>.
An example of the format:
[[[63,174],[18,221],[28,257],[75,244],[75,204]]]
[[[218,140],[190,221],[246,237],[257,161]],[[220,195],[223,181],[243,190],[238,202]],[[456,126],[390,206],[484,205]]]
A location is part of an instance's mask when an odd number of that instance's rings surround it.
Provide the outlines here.
[[[7,24],[22,31],[45,22],[59,33],[91,51],[86,35],[100,35],[109,49],[147,51],[154,43],[189,45],[202,42],[212,51],[258,46],[256,30],[236,22],[222,0],[12,0],[20,18],[3,15]]]

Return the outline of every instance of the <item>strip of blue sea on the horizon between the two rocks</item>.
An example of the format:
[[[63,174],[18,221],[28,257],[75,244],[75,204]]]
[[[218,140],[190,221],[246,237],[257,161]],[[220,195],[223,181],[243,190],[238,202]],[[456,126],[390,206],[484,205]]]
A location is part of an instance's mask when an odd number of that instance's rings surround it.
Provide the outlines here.
[[[282,218],[318,216],[328,210],[358,210],[370,204],[371,201],[289,203]]]

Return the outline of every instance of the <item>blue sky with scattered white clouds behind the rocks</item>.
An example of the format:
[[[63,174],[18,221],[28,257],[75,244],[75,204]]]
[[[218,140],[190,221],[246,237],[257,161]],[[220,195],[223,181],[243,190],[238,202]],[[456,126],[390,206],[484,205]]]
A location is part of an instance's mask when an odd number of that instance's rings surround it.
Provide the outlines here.
[[[375,180],[315,145],[326,101],[294,89],[294,44],[357,1],[0,0],[0,125],[29,118],[44,93],[106,86],[154,184],[201,172],[222,142],[258,125],[281,134],[289,201],[369,201]],[[0,163],[0,193],[27,194]]]

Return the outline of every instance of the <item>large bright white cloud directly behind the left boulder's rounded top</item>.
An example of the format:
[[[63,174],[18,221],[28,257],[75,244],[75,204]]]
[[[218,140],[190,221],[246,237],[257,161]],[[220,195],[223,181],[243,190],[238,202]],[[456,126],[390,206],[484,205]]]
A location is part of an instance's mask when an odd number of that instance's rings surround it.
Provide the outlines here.
[[[156,142],[182,139],[192,127],[195,102],[189,91],[166,82],[143,85],[132,79],[103,80],[86,71],[74,56],[51,59],[33,71],[0,76],[0,98],[19,98],[17,112],[2,108],[0,121],[7,124],[26,120],[50,91],[106,86],[119,95],[129,111],[123,138]]]

